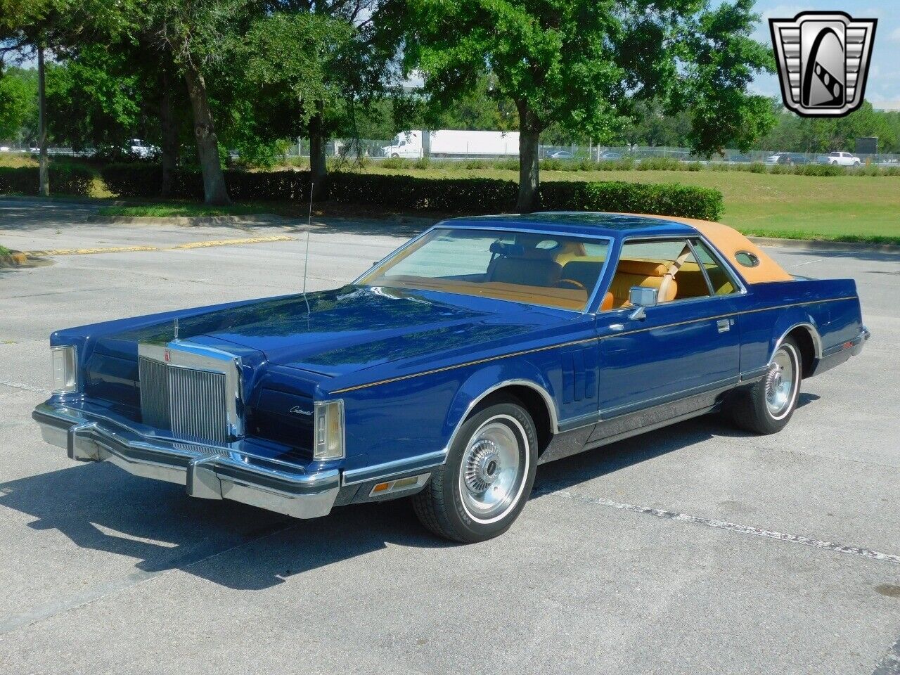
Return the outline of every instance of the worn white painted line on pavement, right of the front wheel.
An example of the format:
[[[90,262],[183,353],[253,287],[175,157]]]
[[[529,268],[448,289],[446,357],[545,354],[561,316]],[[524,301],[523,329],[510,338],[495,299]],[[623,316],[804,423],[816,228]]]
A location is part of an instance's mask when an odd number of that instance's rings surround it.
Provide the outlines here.
[[[783,532],[775,532],[774,530],[763,530],[759,527],[751,527],[749,525],[739,525],[738,523],[730,523],[727,520],[714,520],[712,518],[700,518],[698,516],[689,516],[686,513],[675,513],[674,511],[664,511],[662,509],[651,509],[650,507],[636,506],[635,504],[625,504],[620,501],[605,500],[601,497],[589,497],[578,492],[568,490],[550,490],[538,491],[536,494],[548,495],[551,497],[563,497],[567,500],[581,501],[596,506],[608,507],[611,509],[619,509],[622,511],[631,511],[632,513],[643,513],[646,516],[655,518],[665,518],[667,520],[677,520],[682,523],[691,523],[693,525],[701,525],[704,527],[713,527],[727,532],[738,532],[742,535],[762,536],[767,539],[776,539],[780,542],[788,544],[799,544],[810,546],[823,551],[833,551],[839,554],[857,555],[869,560],[879,560],[885,563],[900,564],[900,555],[883,554],[879,551],[872,551],[868,548],[860,548],[860,546],[847,546],[842,544],[834,544],[821,539],[810,539],[806,536],[788,535]]]

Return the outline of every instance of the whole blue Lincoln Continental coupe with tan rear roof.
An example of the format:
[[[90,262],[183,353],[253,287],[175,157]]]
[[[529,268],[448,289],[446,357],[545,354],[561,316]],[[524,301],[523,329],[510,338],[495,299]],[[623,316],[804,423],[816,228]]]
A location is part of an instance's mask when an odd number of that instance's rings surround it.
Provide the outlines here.
[[[867,338],[852,280],[788,275],[718,223],[461,218],[334,291],[59,330],[33,417],[193,497],[296,518],[411,497],[475,542],[537,464],[715,410],[779,431]]]

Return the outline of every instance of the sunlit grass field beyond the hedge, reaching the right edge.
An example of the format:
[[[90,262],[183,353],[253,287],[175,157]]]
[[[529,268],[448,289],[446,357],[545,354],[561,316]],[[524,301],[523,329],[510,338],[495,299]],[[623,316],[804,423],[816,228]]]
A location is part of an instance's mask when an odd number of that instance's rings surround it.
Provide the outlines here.
[[[367,173],[422,177],[484,176],[518,180],[518,172],[440,166],[407,172],[377,165]],[[755,174],[748,171],[542,171],[542,181],[680,183],[712,187],[725,198],[720,220],[757,237],[900,244],[900,176]]]

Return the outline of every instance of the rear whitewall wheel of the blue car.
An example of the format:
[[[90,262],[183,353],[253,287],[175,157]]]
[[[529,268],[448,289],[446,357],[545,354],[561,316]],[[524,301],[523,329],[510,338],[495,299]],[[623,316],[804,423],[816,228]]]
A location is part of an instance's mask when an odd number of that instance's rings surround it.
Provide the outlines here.
[[[797,408],[802,370],[797,342],[785,338],[776,347],[766,376],[734,401],[734,422],[758,434],[775,434],[785,428]]]

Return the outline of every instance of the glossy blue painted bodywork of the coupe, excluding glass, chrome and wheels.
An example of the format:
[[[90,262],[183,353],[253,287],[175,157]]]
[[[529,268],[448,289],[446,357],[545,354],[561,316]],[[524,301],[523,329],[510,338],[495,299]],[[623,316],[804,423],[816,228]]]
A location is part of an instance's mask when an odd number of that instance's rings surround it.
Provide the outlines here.
[[[609,238],[612,262],[626,237],[698,235],[678,222],[590,213],[438,225],[447,226]],[[545,392],[548,418],[566,430],[737,384],[768,364],[794,326],[815,330],[817,356],[839,352],[862,329],[851,280],[756,284],[663,303],[632,321],[627,310],[597,311],[614,272],[605,267],[585,312],[350,284],[308,294],[309,311],[302,295],[288,295],[61,330],[50,342],[78,347],[84,390],[66,401],[139,423],[138,342],[172,340],[178,319],[186,343],[241,357],[242,442],[312,471],[325,464],[311,461],[311,417],[290,410],[311,411],[313,401],[345,401],[347,458],[328,466],[365,469],[446,448],[498,383]],[[729,329],[720,332],[723,318]]]

